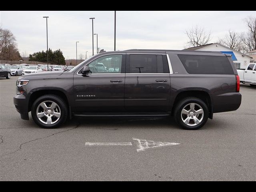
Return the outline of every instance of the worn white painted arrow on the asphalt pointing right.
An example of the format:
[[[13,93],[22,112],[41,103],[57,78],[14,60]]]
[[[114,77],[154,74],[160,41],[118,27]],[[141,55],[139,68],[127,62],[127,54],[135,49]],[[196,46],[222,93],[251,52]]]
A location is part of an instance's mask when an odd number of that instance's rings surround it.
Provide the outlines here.
[[[180,143],[171,143],[171,142],[155,142],[155,141],[147,141],[142,139],[132,138],[134,144],[137,147],[137,152],[144,151],[148,148],[156,148],[162,146],[171,146],[178,145]],[[111,143],[91,143],[86,142],[86,146],[132,146],[132,142],[111,142]]]

